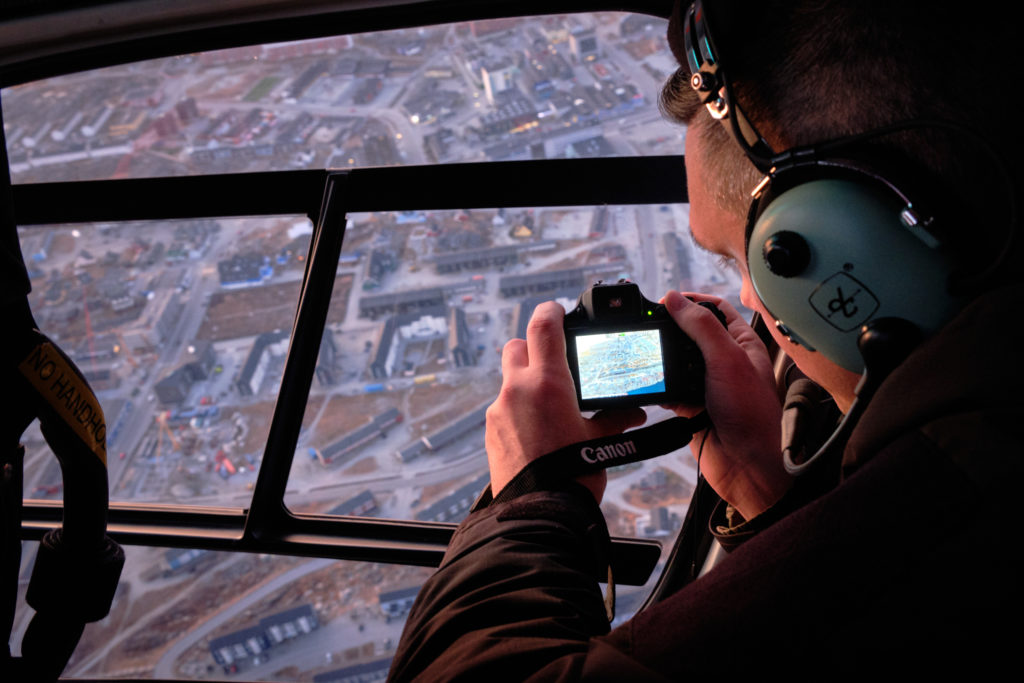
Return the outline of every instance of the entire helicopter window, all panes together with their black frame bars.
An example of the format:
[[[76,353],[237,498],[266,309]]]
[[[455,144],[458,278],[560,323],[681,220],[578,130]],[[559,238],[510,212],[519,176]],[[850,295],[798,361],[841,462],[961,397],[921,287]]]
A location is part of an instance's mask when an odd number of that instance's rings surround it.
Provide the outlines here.
[[[7,3],[4,282],[102,407],[126,555],[63,677],[383,679],[532,307],[618,278],[735,300],[657,111],[670,9]],[[72,468],[13,436],[16,656]],[[713,496],[688,449],[612,472],[620,620],[702,561]]]

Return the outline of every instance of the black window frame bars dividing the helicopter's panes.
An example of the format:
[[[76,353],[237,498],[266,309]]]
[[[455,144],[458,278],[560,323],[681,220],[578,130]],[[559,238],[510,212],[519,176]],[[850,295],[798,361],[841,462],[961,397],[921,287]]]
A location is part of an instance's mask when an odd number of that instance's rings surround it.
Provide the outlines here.
[[[116,11],[116,5],[112,10]],[[123,3],[121,3],[123,4]],[[147,3],[133,3],[146,5]],[[159,4],[159,3],[153,3]],[[197,3],[204,4],[204,3]],[[325,9],[318,2],[286,3],[294,15],[267,17],[260,3],[249,20],[236,15],[193,17],[155,28],[138,19],[136,32],[102,35],[81,31],[62,45],[43,43],[22,59],[0,52],[0,86],[156,56],[239,45],[361,33],[427,24],[580,11],[639,11],[667,16],[671,3],[571,2],[351,2]],[[272,4],[272,3],[271,3]],[[381,11],[401,5],[402,11]],[[318,8],[318,9],[317,9]],[[408,11],[407,11],[408,10]],[[83,12],[100,11],[87,8]],[[278,8],[275,11],[286,11]],[[73,18],[75,12],[61,15]],[[42,22],[46,17],[26,17]],[[145,19],[145,20],[143,20]],[[205,24],[204,24],[205,22]],[[218,24],[211,26],[210,24]],[[0,25],[5,31],[16,22]],[[116,38],[114,37],[116,36]],[[2,44],[2,41],[0,41]],[[6,154],[3,155],[6,161]],[[7,170],[3,171],[5,174]],[[522,183],[522,178],[530,178]],[[566,178],[572,178],[571,183]],[[621,182],[629,178],[628,186]],[[9,178],[7,178],[9,183]],[[394,187],[401,187],[395,193]],[[517,187],[515,193],[507,188]],[[327,318],[345,217],[352,212],[466,208],[595,206],[685,203],[682,156],[586,160],[481,162],[346,171],[295,170],[118,180],[9,184],[13,224],[304,214],[314,229],[303,274],[292,337],[270,430],[247,508],[113,503],[109,533],[125,545],[203,548],[345,560],[436,566],[454,523],[381,520],[293,513],[285,488],[312,382],[315,353]],[[54,201],[54,198],[59,198]],[[27,540],[59,526],[59,502],[26,502]],[[692,523],[691,515],[681,533]],[[615,538],[612,568],[617,583],[643,585],[660,559],[655,541]]]

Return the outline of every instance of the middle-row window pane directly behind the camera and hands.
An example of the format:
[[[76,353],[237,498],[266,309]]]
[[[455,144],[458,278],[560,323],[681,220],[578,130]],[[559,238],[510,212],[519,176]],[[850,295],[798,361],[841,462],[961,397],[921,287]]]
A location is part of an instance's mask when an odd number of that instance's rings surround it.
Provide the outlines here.
[[[334,288],[344,312],[321,341],[286,505],[460,521],[487,481],[502,346],[537,304],[571,309],[588,283],[620,278],[734,297],[735,273],[677,234],[686,220],[686,205],[350,214]],[[671,461],[612,470],[613,533],[678,529],[696,471],[685,450]]]

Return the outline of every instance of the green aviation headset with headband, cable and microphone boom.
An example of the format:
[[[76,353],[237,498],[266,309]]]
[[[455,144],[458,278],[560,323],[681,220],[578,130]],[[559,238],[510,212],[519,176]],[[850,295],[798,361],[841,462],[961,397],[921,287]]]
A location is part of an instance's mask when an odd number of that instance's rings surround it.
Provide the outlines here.
[[[963,273],[936,237],[942,217],[904,191],[891,171],[854,160],[852,150],[911,128],[967,133],[1011,183],[1011,226],[1016,219],[1012,180],[985,140],[941,121],[902,122],[774,153],[733,95],[707,8],[696,0],[680,10],[690,87],[766,174],[752,193],[745,227],[748,267],[758,298],[791,341],[862,373],[857,400],[825,446],[802,464],[784,452],[786,469],[800,473],[826,449],[845,442],[882,380],[966,301],[952,287]],[[1011,229],[991,269],[1006,256],[1012,238]]]

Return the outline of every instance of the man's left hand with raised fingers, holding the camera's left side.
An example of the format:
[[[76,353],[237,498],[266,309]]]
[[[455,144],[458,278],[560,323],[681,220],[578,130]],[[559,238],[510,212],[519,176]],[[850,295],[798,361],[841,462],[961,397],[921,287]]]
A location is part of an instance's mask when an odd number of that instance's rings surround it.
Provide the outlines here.
[[[502,389],[487,409],[484,436],[494,496],[543,455],[618,434],[646,420],[640,409],[604,411],[590,419],[580,414],[565,358],[564,316],[557,303],[541,304],[526,327],[526,340],[513,339],[502,350]],[[598,503],[606,481],[604,472],[580,478]]]

